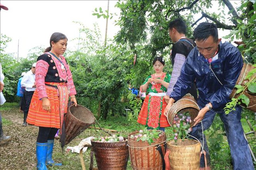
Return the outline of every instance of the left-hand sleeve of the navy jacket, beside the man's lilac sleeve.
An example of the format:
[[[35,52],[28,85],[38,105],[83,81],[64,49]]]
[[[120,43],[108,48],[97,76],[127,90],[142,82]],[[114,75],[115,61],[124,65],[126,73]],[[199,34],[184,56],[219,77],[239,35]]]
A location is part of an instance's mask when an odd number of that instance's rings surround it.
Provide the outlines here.
[[[189,58],[191,55],[192,54],[190,53],[183,64],[180,77],[178,77],[178,80],[173,87],[173,92],[171,92],[170,98],[173,98],[175,101],[186,95],[191,88],[191,83],[195,81],[194,71],[189,64]]]

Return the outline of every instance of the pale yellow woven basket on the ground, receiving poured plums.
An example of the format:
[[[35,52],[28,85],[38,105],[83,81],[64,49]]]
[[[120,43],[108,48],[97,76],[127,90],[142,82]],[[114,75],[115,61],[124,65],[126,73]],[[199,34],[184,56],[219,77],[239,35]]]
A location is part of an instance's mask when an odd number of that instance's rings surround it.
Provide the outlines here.
[[[195,140],[167,142],[170,149],[169,162],[172,170],[199,170],[201,144]]]

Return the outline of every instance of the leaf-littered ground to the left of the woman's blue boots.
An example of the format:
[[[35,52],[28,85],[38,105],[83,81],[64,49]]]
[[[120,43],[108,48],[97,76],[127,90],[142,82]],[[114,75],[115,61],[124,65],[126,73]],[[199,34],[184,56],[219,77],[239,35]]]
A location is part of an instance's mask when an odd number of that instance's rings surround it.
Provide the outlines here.
[[[0,147],[0,168],[8,169],[35,169],[35,141],[38,127],[22,127],[23,113],[18,108],[11,111],[2,111],[2,118],[11,120],[12,125],[3,126],[4,135],[12,136],[8,143]]]

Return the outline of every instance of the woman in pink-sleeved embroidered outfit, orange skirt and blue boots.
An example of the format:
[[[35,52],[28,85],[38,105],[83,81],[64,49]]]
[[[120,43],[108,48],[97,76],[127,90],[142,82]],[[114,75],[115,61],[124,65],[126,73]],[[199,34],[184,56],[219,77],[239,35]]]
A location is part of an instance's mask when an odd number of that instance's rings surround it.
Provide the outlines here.
[[[76,102],[76,90],[66,59],[62,56],[67,48],[67,37],[53,33],[50,47],[36,62],[35,84],[29,107],[27,123],[39,126],[36,140],[37,169],[47,170],[48,166],[61,166],[52,159],[54,136],[63,123],[67,113],[68,98]]]

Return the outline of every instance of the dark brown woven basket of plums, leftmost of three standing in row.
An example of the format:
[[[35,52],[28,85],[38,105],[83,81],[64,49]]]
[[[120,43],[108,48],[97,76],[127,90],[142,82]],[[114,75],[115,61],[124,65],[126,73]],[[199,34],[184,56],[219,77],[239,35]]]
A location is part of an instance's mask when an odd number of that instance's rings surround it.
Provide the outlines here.
[[[92,149],[99,170],[125,170],[129,158],[127,141],[124,142],[94,142]]]

